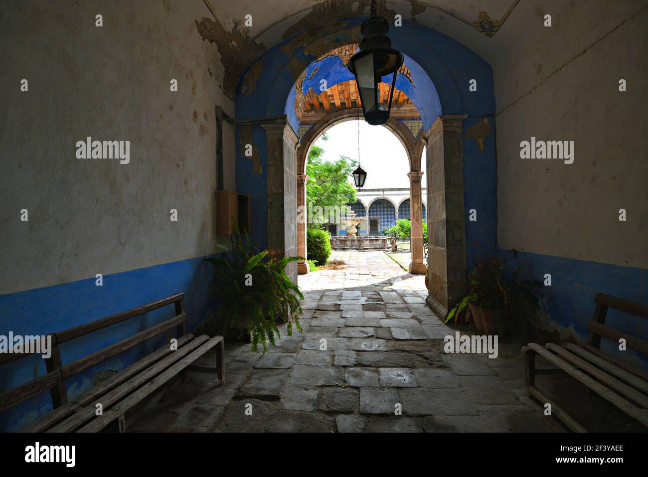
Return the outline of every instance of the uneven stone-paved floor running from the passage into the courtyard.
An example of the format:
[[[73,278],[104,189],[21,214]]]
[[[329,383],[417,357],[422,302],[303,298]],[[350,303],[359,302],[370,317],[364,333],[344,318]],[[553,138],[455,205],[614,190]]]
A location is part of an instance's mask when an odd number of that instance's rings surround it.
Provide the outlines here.
[[[525,396],[520,345],[500,343],[496,359],[446,354],[443,338],[454,330],[424,304],[421,275],[403,272],[382,251],[334,258],[349,265],[299,277],[303,334],[283,338],[266,355],[228,345],[226,384],[188,373],[129,430],[563,430]],[[210,363],[213,355],[201,364]],[[402,415],[395,415],[397,404]]]

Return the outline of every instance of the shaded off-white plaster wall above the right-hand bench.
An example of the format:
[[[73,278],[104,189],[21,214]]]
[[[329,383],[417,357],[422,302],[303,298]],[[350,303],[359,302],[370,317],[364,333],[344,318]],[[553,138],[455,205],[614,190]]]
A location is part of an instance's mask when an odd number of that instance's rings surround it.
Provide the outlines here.
[[[501,247],[648,268],[647,6],[520,2],[484,53],[498,111]],[[531,136],[575,141],[574,163],[520,159]]]

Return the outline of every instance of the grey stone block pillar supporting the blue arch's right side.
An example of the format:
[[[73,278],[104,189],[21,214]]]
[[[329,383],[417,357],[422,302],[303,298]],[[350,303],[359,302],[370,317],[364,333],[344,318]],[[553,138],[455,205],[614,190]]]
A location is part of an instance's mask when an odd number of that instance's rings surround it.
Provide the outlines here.
[[[465,292],[462,131],[466,117],[441,116],[426,132],[430,268],[427,303],[439,316],[445,316]]]

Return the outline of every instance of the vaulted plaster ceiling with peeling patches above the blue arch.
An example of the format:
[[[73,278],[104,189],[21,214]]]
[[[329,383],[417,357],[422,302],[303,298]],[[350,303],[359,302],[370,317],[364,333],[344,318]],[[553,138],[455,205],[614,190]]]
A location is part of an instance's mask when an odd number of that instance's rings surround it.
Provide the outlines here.
[[[338,19],[366,17],[371,5],[371,0],[193,1],[204,6],[204,17],[196,19],[198,32],[216,43],[226,69],[224,90],[232,100],[238,78],[264,51],[297,32],[316,34],[334,29]],[[399,14],[404,22],[437,30],[488,62],[498,111],[645,8],[645,0],[377,1],[380,14]],[[546,14],[553,17],[550,29],[543,25]]]

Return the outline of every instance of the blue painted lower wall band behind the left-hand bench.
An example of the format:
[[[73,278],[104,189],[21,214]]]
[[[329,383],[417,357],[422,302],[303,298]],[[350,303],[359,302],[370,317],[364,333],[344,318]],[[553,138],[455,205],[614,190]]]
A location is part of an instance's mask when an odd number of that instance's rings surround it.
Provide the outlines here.
[[[0,296],[0,334],[48,334],[98,320],[185,292],[187,329],[191,331],[205,316],[213,312],[215,302],[209,291],[211,265],[203,257],[150,266],[128,272],[104,275],[104,285],[96,286],[95,278],[36,288]],[[61,347],[64,364],[87,356],[128,336],[175,315],[167,306],[132,318],[118,325],[64,343]],[[95,373],[106,369],[119,371],[141,356],[163,345],[164,336],[121,353],[110,360],[87,369],[67,380],[69,397],[88,390]],[[36,366],[36,367],[34,367]],[[28,357],[0,367],[0,393],[23,382],[44,375],[45,364],[40,356]],[[17,404],[0,413],[0,431],[17,430],[51,410],[49,393]]]

